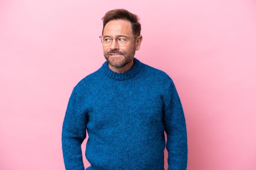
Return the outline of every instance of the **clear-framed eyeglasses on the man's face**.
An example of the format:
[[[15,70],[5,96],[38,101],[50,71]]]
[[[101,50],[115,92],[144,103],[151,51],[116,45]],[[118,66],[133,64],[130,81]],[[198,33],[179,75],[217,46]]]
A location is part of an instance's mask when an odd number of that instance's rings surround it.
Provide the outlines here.
[[[112,44],[113,39],[116,40],[119,46],[124,46],[130,41],[130,37],[138,37],[139,35],[117,35],[115,38],[109,35],[101,35],[99,36],[103,46],[110,46]]]

